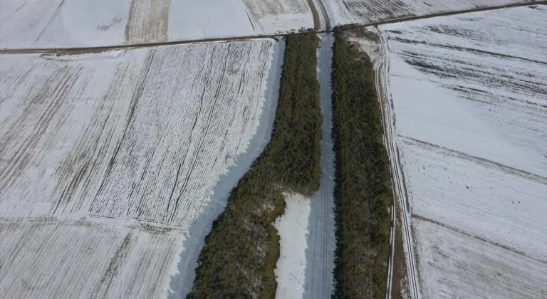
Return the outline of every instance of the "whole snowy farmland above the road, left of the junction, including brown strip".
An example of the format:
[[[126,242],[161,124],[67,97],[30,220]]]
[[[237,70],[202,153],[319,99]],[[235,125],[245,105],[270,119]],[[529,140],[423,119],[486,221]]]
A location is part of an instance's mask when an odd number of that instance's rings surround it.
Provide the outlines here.
[[[0,0],[0,48],[256,36],[313,28],[306,0]]]

